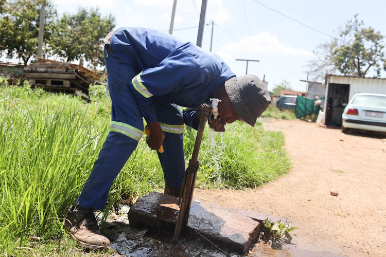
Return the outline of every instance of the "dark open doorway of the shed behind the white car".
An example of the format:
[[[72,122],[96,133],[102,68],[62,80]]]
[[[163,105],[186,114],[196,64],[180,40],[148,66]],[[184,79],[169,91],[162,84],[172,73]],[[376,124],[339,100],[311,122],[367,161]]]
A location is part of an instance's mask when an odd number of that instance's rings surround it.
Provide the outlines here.
[[[326,125],[341,126],[343,109],[348,103],[350,85],[334,84],[328,85]]]

